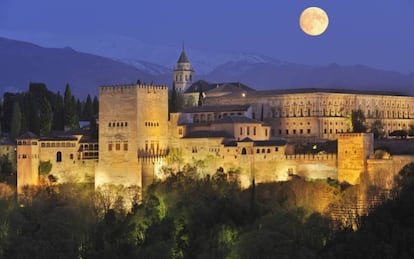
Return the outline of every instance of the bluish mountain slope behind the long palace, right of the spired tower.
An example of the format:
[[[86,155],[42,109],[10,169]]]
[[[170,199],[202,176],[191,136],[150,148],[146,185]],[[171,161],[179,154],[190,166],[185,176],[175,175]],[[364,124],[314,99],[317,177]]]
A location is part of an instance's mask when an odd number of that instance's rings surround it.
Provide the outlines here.
[[[287,62],[227,62],[206,75],[211,81],[240,81],[256,89],[344,88],[399,91],[414,95],[414,73],[363,65],[309,66]]]

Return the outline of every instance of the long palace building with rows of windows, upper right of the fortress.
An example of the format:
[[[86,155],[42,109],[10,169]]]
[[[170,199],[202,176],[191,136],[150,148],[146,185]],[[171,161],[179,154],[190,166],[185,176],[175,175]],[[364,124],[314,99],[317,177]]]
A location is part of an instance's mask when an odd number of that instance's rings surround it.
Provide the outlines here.
[[[375,121],[388,137],[414,125],[414,98],[392,92],[341,89],[244,91],[216,97],[206,92],[207,105],[250,104],[252,118],[271,125],[272,138],[298,142],[335,140],[352,132],[350,115],[361,110],[368,128]]]

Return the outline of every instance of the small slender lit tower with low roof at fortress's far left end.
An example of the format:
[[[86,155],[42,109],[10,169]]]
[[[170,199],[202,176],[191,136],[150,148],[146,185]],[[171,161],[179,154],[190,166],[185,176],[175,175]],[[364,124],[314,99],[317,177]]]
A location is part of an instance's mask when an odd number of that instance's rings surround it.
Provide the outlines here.
[[[39,137],[26,132],[17,138],[17,192],[39,183]]]

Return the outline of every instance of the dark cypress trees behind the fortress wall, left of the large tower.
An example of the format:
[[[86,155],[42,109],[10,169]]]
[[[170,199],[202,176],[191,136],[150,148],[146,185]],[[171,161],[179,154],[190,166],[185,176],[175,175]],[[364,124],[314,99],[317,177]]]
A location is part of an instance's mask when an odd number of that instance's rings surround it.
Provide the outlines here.
[[[96,132],[98,99],[76,99],[66,85],[64,96],[49,91],[45,84],[30,83],[23,93],[5,93],[0,104],[0,132],[18,137],[26,131],[43,136],[51,130],[76,129],[79,120],[90,121]]]

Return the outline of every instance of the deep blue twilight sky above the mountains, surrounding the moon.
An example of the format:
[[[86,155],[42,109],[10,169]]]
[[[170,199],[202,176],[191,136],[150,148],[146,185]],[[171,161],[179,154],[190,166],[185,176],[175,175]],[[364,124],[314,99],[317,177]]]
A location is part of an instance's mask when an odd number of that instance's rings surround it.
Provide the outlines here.
[[[328,13],[322,36],[299,28],[309,6]],[[108,34],[159,46],[180,48],[184,40],[208,51],[414,72],[413,0],[0,0],[3,37],[64,47]]]

